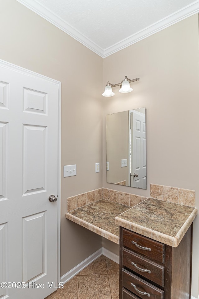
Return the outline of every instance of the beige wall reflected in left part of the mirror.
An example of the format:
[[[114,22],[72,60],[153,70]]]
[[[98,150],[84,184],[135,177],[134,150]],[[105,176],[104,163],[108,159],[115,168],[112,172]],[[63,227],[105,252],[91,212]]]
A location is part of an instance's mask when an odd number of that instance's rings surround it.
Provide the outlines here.
[[[109,162],[109,170],[107,170],[109,183],[126,181],[128,185],[128,114],[128,111],[123,111],[106,116],[106,160]],[[127,167],[121,167],[122,159],[127,159]]]

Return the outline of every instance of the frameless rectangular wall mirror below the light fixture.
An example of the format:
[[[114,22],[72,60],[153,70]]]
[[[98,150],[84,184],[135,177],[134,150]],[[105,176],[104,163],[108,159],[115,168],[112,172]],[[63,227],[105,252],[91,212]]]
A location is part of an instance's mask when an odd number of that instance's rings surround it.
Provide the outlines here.
[[[146,189],[146,109],[106,116],[107,183]]]

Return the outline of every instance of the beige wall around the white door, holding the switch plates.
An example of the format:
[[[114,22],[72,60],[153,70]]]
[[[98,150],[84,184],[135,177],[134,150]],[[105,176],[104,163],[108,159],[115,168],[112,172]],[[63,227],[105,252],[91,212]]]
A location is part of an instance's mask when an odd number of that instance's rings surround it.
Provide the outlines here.
[[[102,187],[103,59],[15,0],[0,1],[0,59],[61,81],[61,275],[102,246],[98,235],[65,218],[67,197]]]

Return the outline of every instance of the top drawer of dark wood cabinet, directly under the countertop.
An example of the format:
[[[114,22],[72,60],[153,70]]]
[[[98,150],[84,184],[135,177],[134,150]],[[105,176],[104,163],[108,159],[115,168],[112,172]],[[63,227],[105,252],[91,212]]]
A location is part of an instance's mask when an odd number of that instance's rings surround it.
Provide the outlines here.
[[[123,229],[123,246],[126,246],[150,259],[164,263],[164,244]]]

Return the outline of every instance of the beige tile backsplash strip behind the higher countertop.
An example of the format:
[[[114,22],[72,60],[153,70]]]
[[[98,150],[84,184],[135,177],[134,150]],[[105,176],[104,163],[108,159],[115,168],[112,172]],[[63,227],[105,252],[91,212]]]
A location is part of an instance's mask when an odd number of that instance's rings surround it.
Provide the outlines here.
[[[183,206],[195,207],[196,191],[178,187],[150,184],[150,197],[174,202]]]

